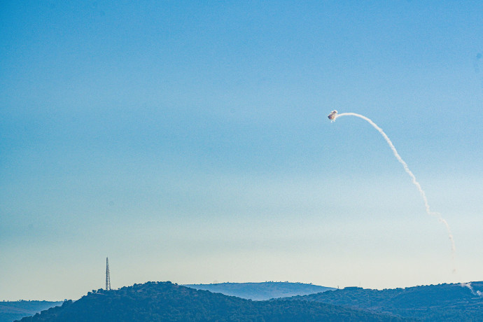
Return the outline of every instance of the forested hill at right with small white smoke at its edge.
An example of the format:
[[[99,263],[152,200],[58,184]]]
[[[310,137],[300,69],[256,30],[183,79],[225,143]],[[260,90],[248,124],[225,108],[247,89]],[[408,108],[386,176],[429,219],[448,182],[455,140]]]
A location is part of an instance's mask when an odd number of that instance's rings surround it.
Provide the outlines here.
[[[286,300],[343,305],[421,321],[483,321],[482,292],[483,282],[479,281],[385,290],[344,288]]]

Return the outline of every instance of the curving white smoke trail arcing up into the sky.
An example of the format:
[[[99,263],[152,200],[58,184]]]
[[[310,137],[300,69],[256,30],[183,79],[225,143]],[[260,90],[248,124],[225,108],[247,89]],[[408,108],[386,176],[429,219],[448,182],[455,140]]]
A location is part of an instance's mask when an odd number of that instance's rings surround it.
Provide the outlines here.
[[[398,151],[395,149],[393,142],[391,142],[391,140],[386,135],[386,133],[384,133],[384,131],[380,127],[378,127],[376,123],[372,122],[372,120],[370,118],[366,118],[365,116],[362,116],[362,115],[357,114],[357,113],[341,113],[341,114],[338,114],[337,111],[334,110],[329,114],[328,118],[331,120],[331,122],[335,122],[335,120],[337,118],[340,118],[341,116],[356,116],[357,118],[362,118],[363,120],[367,121],[367,123],[372,125],[372,127],[374,127],[374,129],[376,129],[382,135],[382,137],[384,137],[387,144],[389,145],[389,147],[393,151],[395,158],[398,159],[399,163],[402,165],[405,172],[407,174],[409,174],[409,176],[412,179],[412,183],[418,189],[421,197],[423,197],[424,207],[426,208],[426,214],[428,214],[430,216],[435,216],[437,218],[437,220],[440,221],[441,223],[443,223],[444,226],[446,227],[449,240],[451,241],[451,258],[454,261],[454,254],[455,254],[455,251],[456,251],[456,247],[454,246],[453,235],[451,234],[451,229],[449,228],[447,221],[445,221],[444,218],[442,218],[442,216],[439,212],[431,211],[429,204],[428,204],[428,198],[426,198],[426,193],[424,192],[423,188],[421,188],[421,185],[419,184],[419,182],[416,180],[416,176],[414,176],[414,174],[411,172],[411,170],[409,170],[409,167],[407,167],[406,162],[404,160],[402,160]],[[453,269],[453,272],[456,272],[456,268]]]

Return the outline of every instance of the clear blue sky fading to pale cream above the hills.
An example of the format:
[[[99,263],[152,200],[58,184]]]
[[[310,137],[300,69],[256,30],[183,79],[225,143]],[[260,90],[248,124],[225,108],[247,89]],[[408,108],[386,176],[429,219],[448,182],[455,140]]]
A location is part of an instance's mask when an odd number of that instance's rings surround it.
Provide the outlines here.
[[[302,2],[1,1],[0,300],[483,280],[483,3]]]

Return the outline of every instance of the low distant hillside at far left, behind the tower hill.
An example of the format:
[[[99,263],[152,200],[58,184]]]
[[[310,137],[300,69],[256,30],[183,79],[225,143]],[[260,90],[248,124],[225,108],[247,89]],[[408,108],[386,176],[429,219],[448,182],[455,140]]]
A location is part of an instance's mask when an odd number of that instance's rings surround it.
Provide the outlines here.
[[[37,312],[61,305],[62,302],[48,301],[13,301],[0,302],[0,322],[12,322],[24,316],[30,316]]]

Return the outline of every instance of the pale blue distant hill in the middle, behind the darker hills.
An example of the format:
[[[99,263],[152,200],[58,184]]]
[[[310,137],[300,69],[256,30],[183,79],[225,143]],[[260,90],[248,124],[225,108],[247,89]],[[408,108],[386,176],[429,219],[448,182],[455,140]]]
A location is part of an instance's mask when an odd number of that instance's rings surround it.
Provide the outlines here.
[[[313,284],[273,281],[262,283],[186,284],[184,286],[251,300],[269,300],[276,297],[307,295],[335,289]]]

